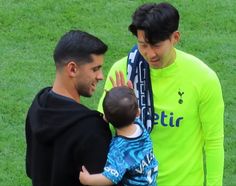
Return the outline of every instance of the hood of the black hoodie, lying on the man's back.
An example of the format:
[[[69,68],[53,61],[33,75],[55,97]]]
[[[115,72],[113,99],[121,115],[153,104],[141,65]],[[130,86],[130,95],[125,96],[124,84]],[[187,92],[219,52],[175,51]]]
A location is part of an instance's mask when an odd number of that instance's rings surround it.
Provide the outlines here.
[[[26,123],[33,135],[41,142],[53,142],[79,121],[91,117],[101,117],[73,99],[58,95],[51,87],[41,90],[35,97],[27,116]]]

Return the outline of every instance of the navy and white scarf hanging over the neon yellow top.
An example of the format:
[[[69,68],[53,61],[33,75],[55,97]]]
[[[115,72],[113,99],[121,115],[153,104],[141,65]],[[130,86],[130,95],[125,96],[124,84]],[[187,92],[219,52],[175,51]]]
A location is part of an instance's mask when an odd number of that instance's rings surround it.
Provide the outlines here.
[[[128,55],[128,79],[132,81],[135,94],[138,98],[141,115],[140,119],[150,133],[154,124],[154,106],[149,65],[139,53],[135,45]]]

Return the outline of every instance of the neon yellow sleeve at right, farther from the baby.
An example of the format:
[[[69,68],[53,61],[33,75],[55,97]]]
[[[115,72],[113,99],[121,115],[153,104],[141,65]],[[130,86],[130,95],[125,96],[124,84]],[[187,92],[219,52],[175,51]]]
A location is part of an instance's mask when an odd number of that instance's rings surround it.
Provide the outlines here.
[[[222,185],[224,168],[224,102],[221,85],[215,73],[202,88],[199,114],[205,139],[206,182]]]

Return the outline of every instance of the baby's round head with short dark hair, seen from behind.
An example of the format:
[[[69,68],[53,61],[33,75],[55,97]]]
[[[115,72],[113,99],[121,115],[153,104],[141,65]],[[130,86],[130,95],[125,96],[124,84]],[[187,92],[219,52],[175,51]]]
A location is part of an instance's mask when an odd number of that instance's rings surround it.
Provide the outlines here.
[[[134,122],[138,113],[134,90],[128,87],[114,87],[106,92],[103,100],[106,119],[115,127],[122,128]]]

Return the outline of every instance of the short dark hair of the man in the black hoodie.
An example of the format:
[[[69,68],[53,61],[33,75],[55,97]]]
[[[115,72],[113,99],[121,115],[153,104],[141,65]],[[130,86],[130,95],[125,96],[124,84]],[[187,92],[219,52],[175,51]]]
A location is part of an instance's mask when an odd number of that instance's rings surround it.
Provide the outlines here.
[[[89,63],[92,62],[91,54],[105,54],[107,48],[97,37],[80,30],[71,30],[57,43],[53,58],[57,67],[72,60],[78,64]]]

